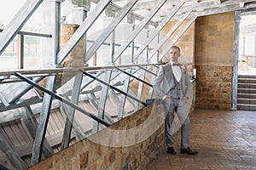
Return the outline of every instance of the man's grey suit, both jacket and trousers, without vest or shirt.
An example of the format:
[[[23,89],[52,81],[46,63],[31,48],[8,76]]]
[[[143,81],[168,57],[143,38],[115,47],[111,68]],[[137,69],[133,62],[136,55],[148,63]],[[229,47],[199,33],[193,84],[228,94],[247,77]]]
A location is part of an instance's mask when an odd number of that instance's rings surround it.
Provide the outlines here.
[[[177,113],[178,120],[181,127],[182,139],[181,148],[185,149],[189,147],[189,111],[187,105],[183,101],[183,96],[189,98],[191,91],[191,83],[189,74],[185,65],[180,65],[182,70],[182,77],[180,82],[177,82],[173,75],[172,64],[169,62],[166,65],[160,66],[160,71],[154,80],[153,87],[154,92],[160,99],[163,99],[165,95],[172,96],[163,102],[166,111],[166,144],[167,147],[173,147],[172,134],[176,131],[173,130],[174,123],[174,111]],[[178,89],[178,95],[177,95]],[[179,128],[179,127],[178,127]],[[175,131],[175,132],[174,132]]]

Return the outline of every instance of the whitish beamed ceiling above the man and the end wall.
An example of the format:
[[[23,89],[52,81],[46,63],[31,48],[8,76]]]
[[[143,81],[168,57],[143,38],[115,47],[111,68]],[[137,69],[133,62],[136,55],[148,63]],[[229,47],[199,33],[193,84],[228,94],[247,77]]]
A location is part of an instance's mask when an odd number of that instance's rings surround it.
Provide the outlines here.
[[[123,7],[129,0],[113,0],[113,3],[119,7]],[[196,16],[203,16],[208,14],[218,14],[236,10],[255,11],[255,0],[164,0],[166,3],[160,8],[157,14],[154,15],[151,21],[160,22],[170,14],[172,8],[178,3],[183,3],[183,6],[179,8],[177,14],[172,18],[176,20],[181,15],[191,11],[191,14]],[[134,14],[141,15],[143,17],[148,15],[148,11],[155,8],[159,2],[163,0],[139,0],[136,5],[131,9]],[[252,10],[253,8],[253,10]]]

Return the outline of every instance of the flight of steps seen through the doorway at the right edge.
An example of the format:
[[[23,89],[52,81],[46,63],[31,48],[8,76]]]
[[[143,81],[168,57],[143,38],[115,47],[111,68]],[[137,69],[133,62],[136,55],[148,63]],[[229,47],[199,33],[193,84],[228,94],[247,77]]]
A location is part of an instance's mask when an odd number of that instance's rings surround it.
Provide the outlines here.
[[[237,110],[256,111],[255,75],[238,75]]]

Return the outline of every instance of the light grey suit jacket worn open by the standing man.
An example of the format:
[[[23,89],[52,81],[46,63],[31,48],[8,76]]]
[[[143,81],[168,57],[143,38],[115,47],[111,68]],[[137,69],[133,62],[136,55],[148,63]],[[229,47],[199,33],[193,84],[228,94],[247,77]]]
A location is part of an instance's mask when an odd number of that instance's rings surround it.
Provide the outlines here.
[[[189,74],[187,71],[187,67],[185,65],[180,65],[182,70],[181,77],[181,88],[183,96],[189,98],[189,94],[191,91],[191,82],[189,78]],[[175,77],[172,71],[172,64],[168,62],[166,65],[160,66],[160,71],[158,72],[157,77],[155,77],[153,88],[155,94],[157,94],[160,99],[162,99],[165,95],[170,93],[170,89],[175,88]]]

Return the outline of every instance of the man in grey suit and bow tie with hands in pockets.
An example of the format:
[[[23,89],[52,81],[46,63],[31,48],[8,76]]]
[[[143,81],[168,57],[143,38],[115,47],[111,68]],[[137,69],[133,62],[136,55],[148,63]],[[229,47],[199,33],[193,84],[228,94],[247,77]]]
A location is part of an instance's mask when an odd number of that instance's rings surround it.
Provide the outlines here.
[[[185,65],[178,63],[180,48],[172,46],[170,62],[160,66],[160,71],[154,80],[154,91],[162,99],[166,111],[166,145],[167,152],[176,155],[173,147],[172,134],[175,128],[173,119],[174,111],[181,127],[181,154],[197,155],[197,151],[189,148],[189,111],[186,101],[189,99],[191,83]],[[178,127],[179,128],[179,127]]]

